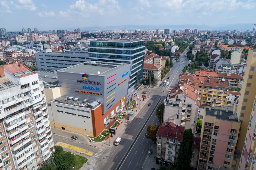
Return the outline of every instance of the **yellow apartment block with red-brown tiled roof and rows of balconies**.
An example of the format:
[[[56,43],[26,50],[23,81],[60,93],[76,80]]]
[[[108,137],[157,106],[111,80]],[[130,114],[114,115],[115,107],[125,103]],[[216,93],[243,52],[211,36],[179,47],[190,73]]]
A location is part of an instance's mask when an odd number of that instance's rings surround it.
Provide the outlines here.
[[[228,90],[228,81],[225,81],[225,79],[204,78],[203,84],[199,85],[200,105],[226,104]]]

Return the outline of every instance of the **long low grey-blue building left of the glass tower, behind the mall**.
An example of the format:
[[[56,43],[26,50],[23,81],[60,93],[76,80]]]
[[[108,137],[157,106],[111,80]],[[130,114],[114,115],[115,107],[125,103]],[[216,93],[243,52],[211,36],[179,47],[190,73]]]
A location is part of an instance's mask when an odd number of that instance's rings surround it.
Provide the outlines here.
[[[86,50],[66,50],[65,52],[58,52],[52,51],[52,49],[46,49],[35,55],[38,70],[60,70],[90,61],[88,51]]]

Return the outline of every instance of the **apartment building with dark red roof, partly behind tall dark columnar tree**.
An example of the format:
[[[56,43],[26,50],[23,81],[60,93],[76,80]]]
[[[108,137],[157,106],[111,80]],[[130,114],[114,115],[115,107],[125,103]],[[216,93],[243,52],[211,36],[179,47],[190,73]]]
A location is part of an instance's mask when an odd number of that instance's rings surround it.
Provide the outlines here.
[[[179,155],[180,143],[185,128],[173,122],[164,122],[156,133],[156,164],[161,166],[175,166]],[[197,168],[200,149],[200,138],[194,137],[192,145],[192,159],[190,166]]]

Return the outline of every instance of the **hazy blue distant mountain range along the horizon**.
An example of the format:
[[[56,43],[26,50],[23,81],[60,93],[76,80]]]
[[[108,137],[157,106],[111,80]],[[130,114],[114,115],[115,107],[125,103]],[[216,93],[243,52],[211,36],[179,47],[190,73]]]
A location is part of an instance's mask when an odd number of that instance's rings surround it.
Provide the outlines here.
[[[172,30],[184,30],[184,29],[195,29],[198,30],[252,30],[253,24],[216,24],[216,25],[198,25],[198,24],[183,24],[183,25],[123,25],[123,26],[92,26],[92,27],[80,27],[80,30],[97,31],[97,30],[124,30],[132,31],[135,29],[141,30],[155,30],[155,29],[170,28]],[[74,29],[74,28],[70,28]]]

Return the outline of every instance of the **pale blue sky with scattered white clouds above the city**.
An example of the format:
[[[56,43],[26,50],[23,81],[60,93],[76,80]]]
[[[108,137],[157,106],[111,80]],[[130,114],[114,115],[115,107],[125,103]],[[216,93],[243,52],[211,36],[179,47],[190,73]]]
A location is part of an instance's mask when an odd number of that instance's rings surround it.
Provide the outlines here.
[[[92,26],[255,22],[256,0],[0,0],[0,27],[39,31]]]

